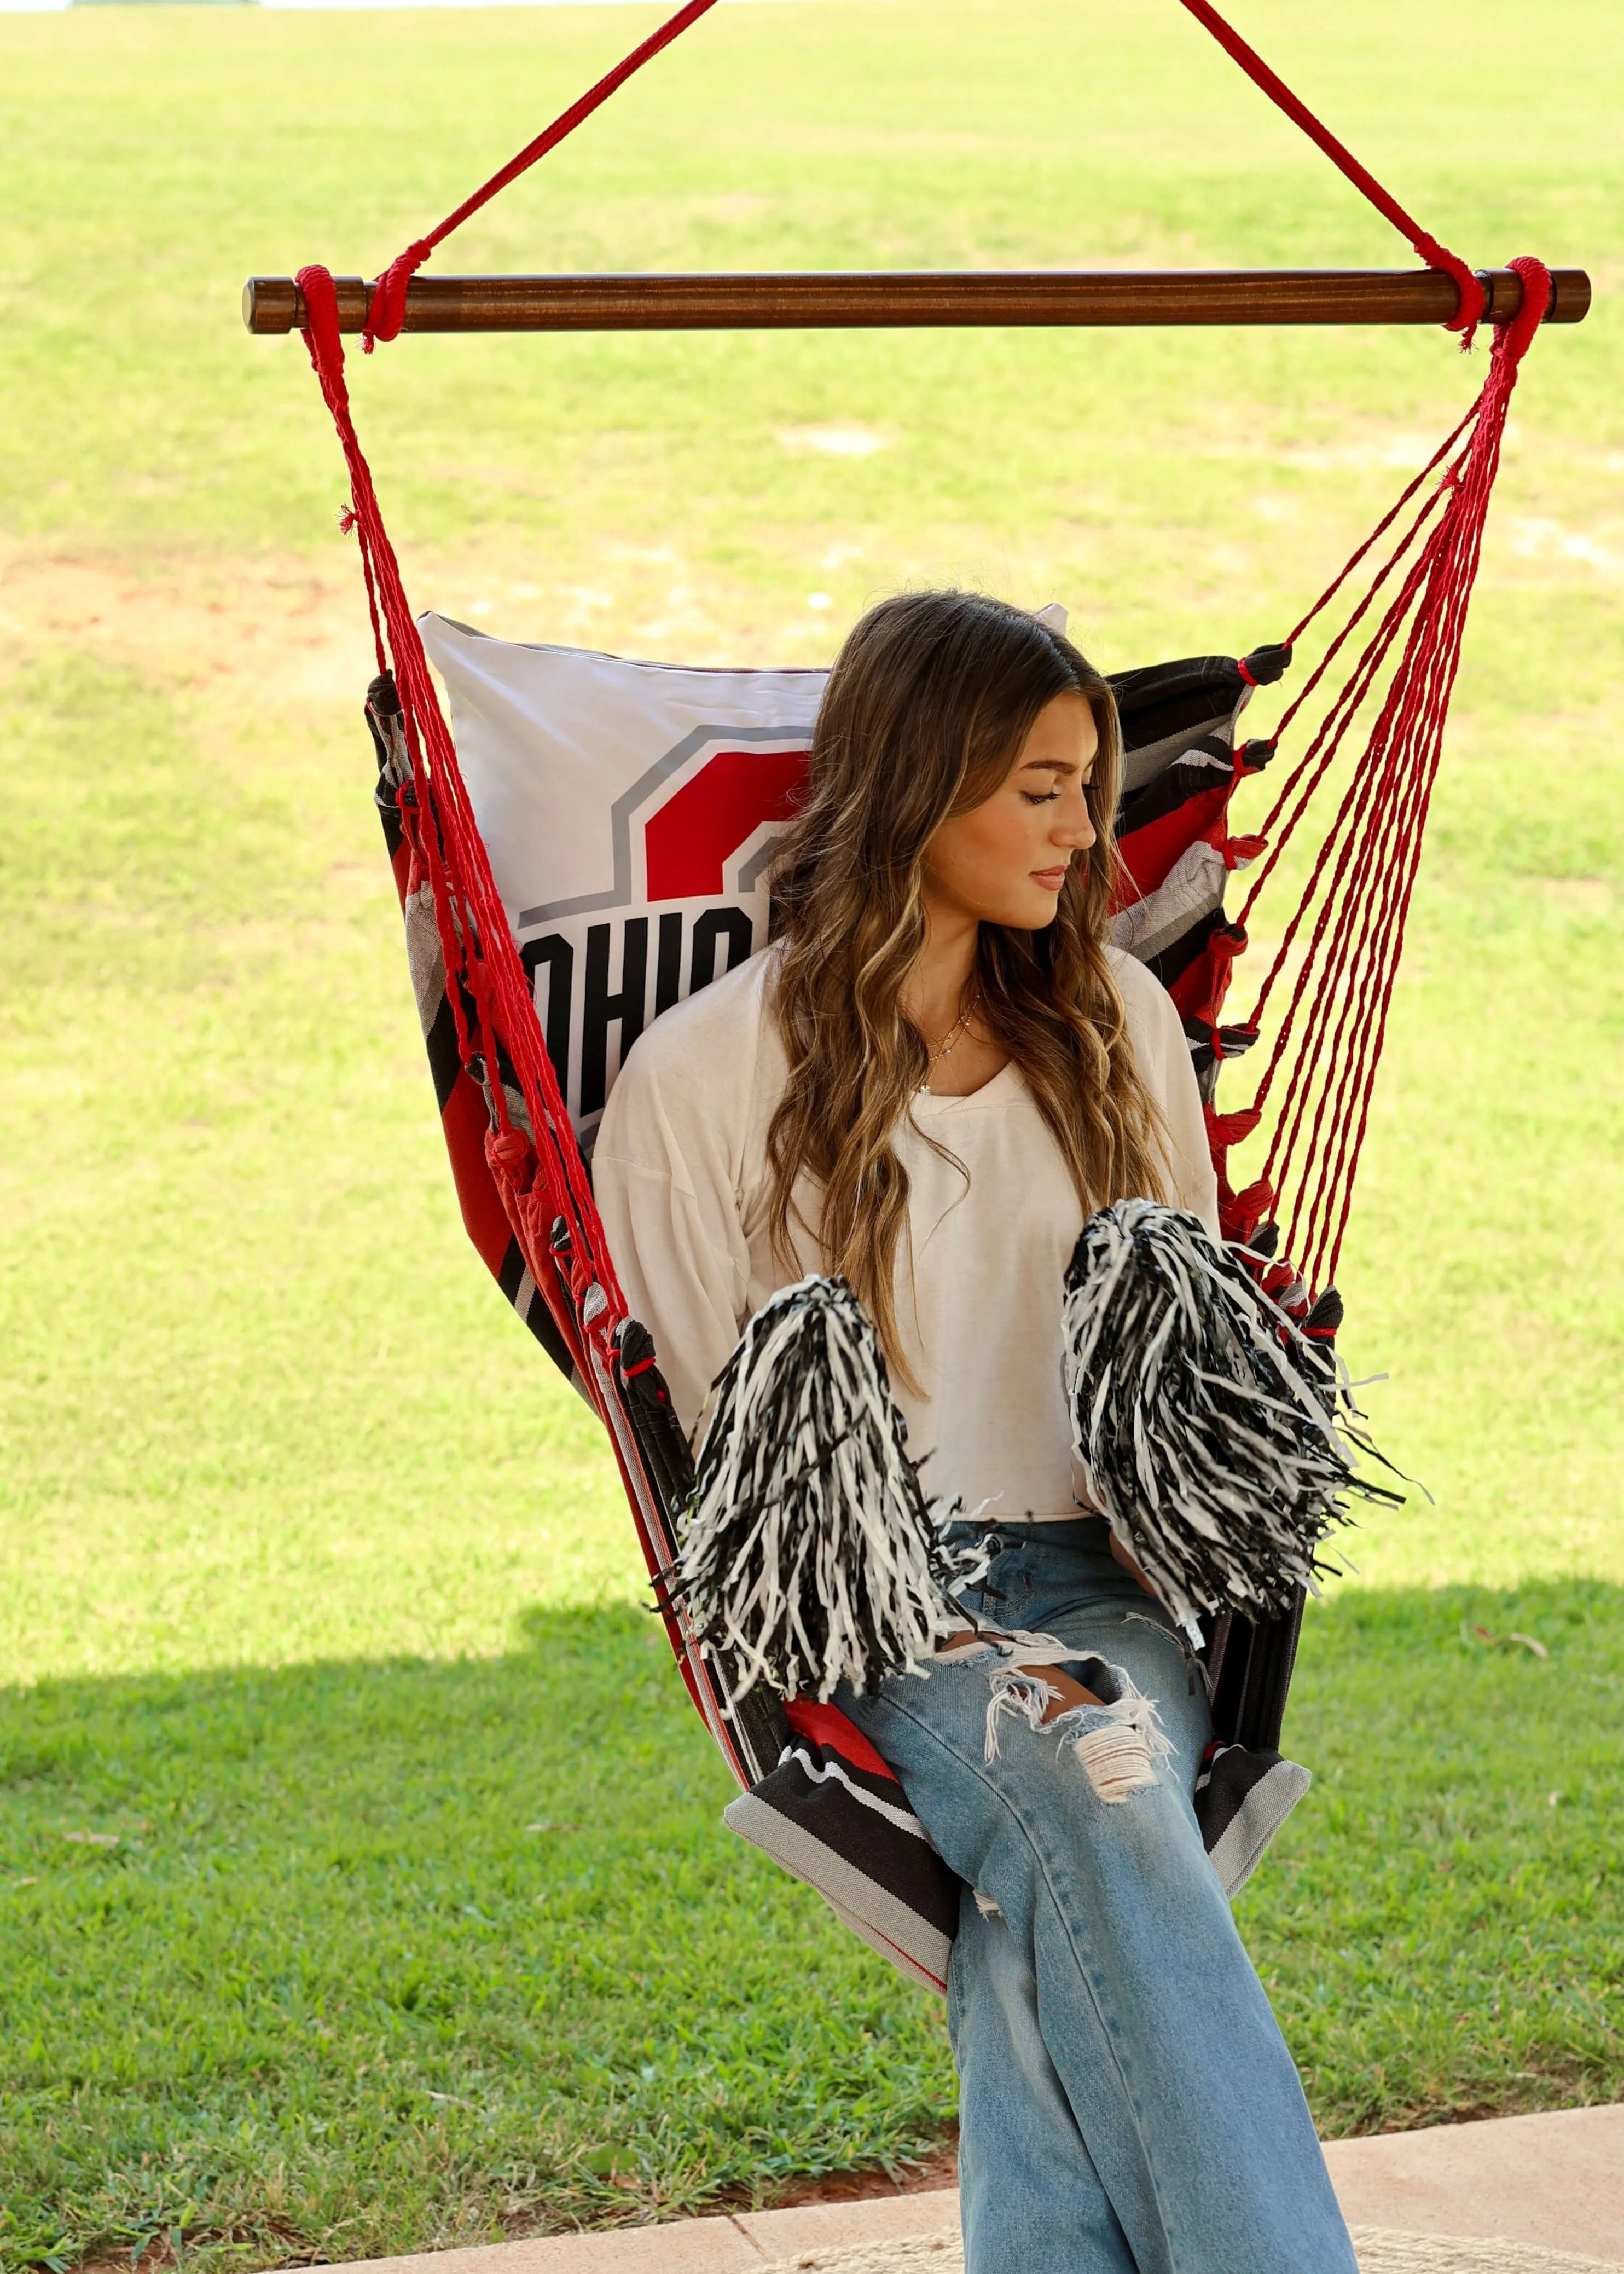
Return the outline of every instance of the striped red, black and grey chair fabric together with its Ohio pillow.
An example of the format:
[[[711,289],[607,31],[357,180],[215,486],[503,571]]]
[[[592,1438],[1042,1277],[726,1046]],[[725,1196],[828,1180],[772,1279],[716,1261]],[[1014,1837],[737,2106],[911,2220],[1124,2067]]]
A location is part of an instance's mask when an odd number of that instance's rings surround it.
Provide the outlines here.
[[[450,694],[473,816],[535,989],[560,1094],[589,1157],[637,1035],[767,944],[767,871],[805,780],[826,673],[694,671],[514,646],[444,616],[421,619],[419,630]],[[1228,835],[1228,803],[1269,755],[1267,744],[1237,741],[1237,723],[1253,687],[1278,678],[1285,659],[1283,648],[1244,659],[1201,655],[1112,682],[1126,744],[1117,835],[1130,880],[1115,932],[1174,996],[1208,1096],[1235,951],[1224,887],[1251,855],[1249,839]],[[537,1285],[494,1176],[494,1082],[503,1080],[519,1126],[525,1105],[505,1069],[469,1069],[459,1055],[412,762],[387,678],[373,682],[366,716],[464,1226],[523,1323],[596,1403],[562,1317],[562,1287]],[[621,1337],[619,1373],[653,1576],[671,1562],[673,1517],[691,1471],[664,1403],[657,1353],[637,1321]],[[1199,1810],[1231,1890],[1308,1785],[1306,1771],[1278,1753],[1299,1619],[1301,1605],[1262,1624],[1228,1617],[1208,1644],[1219,1749]],[[805,1699],[755,1696],[728,1717],[714,1669],[691,1649],[680,1658],[746,1787],[728,1808],[732,1828],[817,1887],[905,1974],[942,1990],[960,1887],[873,1746],[837,1708]]]

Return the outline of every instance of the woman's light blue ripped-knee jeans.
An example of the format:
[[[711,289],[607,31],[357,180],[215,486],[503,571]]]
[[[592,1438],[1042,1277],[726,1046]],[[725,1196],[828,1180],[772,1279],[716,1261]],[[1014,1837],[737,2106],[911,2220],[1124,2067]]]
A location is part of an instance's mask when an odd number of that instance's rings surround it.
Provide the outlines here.
[[[839,1692],[964,1881],[948,2028],[967,2274],[1358,2274],[1190,1806],[1201,1680],[1105,1524],[996,1537],[964,1605],[1126,1674],[1171,1751],[1117,1801],[1076,1751],[1103,1719],[1087,1708],[1062,1728],[1003,1712],[987,1758],[989,1655]]]

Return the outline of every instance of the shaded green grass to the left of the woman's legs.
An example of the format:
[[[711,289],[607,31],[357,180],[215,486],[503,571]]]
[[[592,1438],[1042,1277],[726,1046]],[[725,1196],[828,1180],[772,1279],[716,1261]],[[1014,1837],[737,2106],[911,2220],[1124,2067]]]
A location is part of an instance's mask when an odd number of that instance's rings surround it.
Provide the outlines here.
[[[926,2151],[935,2003],[730,1790],[630,1608],[0,1694],[0,2249],[368,2256]]]

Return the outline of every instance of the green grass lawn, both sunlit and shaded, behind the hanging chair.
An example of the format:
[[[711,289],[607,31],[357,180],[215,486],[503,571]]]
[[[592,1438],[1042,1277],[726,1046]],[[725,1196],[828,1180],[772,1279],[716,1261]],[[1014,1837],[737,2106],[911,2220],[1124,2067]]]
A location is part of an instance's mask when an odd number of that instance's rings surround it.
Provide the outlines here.
[[[951,2124],[935,2006],[719,1826],[596,1428],[462,1239],[337,448],[298,341],[237,318],[250,268],[375,271],[646,20],[0,18],[9,2263],[671,2213]],[[1362,2131],[1624,2090],[1624,30],[1244,25],[1467,257],[1601,293],[1517,398],[1342,1269],[1433,1505],[1374,1519],[1308,1624],[1317,1785],[1240,1906],[1321,2128]],[[889,0],[716,11],[439,266],[1092,259],[1406,255],[1171,0]],[[1481,357],[994,332],[353,368],[421,605],[810,662],[958,578],[1064,598],[1117,669],[1278,637]]]

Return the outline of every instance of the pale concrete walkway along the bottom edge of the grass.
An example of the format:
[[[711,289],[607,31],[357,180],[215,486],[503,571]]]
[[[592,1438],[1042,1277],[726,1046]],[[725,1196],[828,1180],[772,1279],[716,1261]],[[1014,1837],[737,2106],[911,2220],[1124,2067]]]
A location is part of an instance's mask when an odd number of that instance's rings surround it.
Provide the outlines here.
[[[1349,2226],[1501,2238],[1624,2267],[1624,2108],[1333,2140],[1326,2160]],[[753,2274],[810,2251],[942,2233],[958,2233],[953,2188],[362,2265],[364,2274]]]

